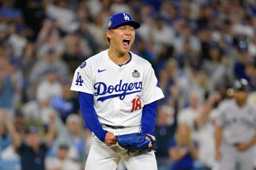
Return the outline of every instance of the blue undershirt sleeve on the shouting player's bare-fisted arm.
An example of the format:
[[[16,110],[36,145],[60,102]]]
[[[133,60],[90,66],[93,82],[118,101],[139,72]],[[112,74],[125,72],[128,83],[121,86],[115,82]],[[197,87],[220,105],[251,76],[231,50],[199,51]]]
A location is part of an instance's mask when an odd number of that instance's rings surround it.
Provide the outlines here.
[[[105,143],[106,133],[97,119],[95,108],[93,107],[93,94],[86,92],[78,92],[81,113],[88,128],[99,138],[100,141]]]

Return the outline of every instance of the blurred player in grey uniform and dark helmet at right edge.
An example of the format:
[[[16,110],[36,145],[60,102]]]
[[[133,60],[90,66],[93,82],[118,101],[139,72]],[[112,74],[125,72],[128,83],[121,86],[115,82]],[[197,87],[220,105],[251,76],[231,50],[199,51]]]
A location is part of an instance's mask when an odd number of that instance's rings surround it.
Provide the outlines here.
[[[220,109],[215,131],[215,157],[219,170],[254,169],[256,142],[256,109],[247,103],[248,82],[234,81],[234,98],[225,101]]]

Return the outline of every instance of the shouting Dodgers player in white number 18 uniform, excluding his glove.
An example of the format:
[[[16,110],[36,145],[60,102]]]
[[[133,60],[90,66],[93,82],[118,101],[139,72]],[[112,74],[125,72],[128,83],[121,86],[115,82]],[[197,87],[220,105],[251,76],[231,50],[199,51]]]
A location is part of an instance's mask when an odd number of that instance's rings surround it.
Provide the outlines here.
[[[115,137],[152,135],[157,100],[164,97],[151,64],[130,52],[140,26],[130,14],[111,16],[108,50],[81,63],[74,73],[71,90],[78,91],[81,113],[93,132],[86,170],[117,169],[120,160],[127,169],[157,169],[154,152],[128,154]]]

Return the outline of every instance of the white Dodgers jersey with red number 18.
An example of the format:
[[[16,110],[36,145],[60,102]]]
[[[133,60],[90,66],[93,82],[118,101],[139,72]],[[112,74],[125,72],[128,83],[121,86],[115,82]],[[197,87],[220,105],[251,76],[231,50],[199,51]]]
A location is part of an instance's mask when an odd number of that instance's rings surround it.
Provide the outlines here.
[[[77,68],[71,90],[93,94],[99,122],[112,126],[141,125],[142,107],[164,97],[151,64],[136,54],[118,66],[108,50]]]

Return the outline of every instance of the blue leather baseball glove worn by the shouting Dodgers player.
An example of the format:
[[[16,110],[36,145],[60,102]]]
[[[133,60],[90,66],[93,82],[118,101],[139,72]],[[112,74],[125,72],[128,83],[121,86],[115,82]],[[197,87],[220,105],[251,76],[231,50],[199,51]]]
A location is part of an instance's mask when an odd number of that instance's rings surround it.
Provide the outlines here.
[[[128,154],[130,152],[150,152],[156,149],[156,138],[150,134],[142,134],[141,132],[136,132],[132,134],[117,135],[117,143],[119,146],[126,149]],[[152,143],[151,147],[148,147],[150,141],[146,139],[149,137]]]

